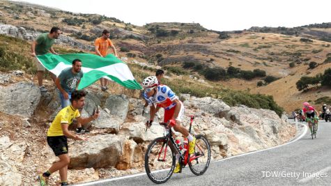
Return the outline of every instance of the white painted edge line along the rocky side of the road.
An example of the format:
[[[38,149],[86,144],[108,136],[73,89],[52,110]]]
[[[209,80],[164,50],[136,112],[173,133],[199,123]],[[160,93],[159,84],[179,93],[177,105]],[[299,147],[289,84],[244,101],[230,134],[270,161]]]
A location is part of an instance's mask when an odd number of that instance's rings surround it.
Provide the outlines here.
[[[303,124],[300,123],[300,125],[303,125]],[[271,147],[271,148],[265,148],[265,149],[262,149],[262,150],[256,150],[256,151],[250,152],[250,153],[243,153],[241,155],[235,155],[235,156],[231,156],[231,157],[226,157],[225,159],[217,160],[215,162],[222,162],[222,161],[225,161],[225,160],[230,160],[232,158],[236,158],[236,157],[240,157],[240,156],[244,156],[244,155],[250,155],[252,153],[259,153],[259,152],[262,152],[262,151],[265,151],[265,150],[270,150],[270,149],[273,149],[273,148],[279,148],[281,146],[286,146],[288,144],[292,144],[293,142],[298,141],[299,139],[301,139],[307,133],[307,130],[308,130],[307,125],[303,125],[303,126],[305,127],[305,131],[302,132],[302,134],[300,135],[300,137],[298,137],[297,139],[295,139],[293,141],[290,141],[290,142],[288,142],[286,144],[282,144],[280,146],[274,146],[274,147]],[[143,175],[146,175],[146,172],[144,172],[144,173],[137,173],[137,174],[133,174],[133,175],[130,175],[130,176],[123,176],[123,177],[118,177],[118,178],[110,178],[110,179],[105,179],[105,180],[98,180],[98,181],[94,181],[94,182],[90,182],[90,183],[82,183],[82,184],[77,184],[77,185],[78,186],[95,185],[95,184],[100,184],[100,183],[107,183],[107,182],[114,181],[114,180],[122,180],[122,179],[126,179],[126,178],[133,178],[133,177],[143,176]]]

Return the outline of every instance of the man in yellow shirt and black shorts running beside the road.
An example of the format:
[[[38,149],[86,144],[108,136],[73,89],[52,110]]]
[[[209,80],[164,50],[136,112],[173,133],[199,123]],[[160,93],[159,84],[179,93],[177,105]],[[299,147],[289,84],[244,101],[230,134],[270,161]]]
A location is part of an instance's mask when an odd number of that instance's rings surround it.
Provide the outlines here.
[[[86,140],[83,137],[72,134],[68,130],[68,126],[72,124],[74,118],[80,123],[88,123],[98,118],[99,114],[95,113],[88,118],[82,118],[78,109],[84,107],[86,91],[79,90],[71,93],[70,105],[64,107],[55,116],[52,125],[47,131],[47,144],[52,148],[54,154],[59,157],[60,161],[54,163],[51,168],[38,176],[41,186],[47,185],[47,180],[51,173],[59,171],[61,178],[61,185],[68,185],[68,164],[70,163],[70,157],[68,155],[68,143],[67,138],[75,140]]]

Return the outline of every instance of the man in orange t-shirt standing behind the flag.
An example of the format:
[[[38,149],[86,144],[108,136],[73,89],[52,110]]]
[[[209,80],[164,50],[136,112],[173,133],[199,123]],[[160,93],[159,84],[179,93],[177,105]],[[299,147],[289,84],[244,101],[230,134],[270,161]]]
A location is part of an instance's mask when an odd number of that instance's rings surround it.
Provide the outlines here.
[[[95,40],[95,54],[105,57],[107,55],[108,47],[113,49],[114,55],[117,57],[116,48],[109,39],[110,33],[107,30],[102,31],[102,36]],[[108,89],[108,80],[105,78],[100,78],[101,90],[106,91]]]

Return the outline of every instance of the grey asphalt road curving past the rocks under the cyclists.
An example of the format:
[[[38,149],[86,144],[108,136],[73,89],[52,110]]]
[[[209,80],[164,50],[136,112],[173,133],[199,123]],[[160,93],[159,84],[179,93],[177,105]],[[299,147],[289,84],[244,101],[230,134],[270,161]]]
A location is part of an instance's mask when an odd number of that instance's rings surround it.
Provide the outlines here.
[[[302,129],[288,144],[210,162],[202,176],[185,168],[163,185],[331,185],[331,123],[320,121],[316,139]],[[140,173],[83,185],[156,184]]]

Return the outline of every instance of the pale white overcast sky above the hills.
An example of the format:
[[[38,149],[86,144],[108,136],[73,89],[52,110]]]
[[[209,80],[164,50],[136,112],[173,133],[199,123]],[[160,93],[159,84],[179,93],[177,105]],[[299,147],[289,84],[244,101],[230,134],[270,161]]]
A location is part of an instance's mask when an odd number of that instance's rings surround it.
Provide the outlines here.
[[[22,0],[21,0],[22,1]],[[25,0],[73,13],[96,13],[143,26],[151,22],[199,23],[234,31],[252,26],[303,26],[331,22],[330,0]]]

